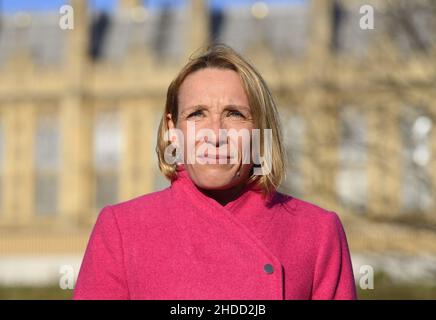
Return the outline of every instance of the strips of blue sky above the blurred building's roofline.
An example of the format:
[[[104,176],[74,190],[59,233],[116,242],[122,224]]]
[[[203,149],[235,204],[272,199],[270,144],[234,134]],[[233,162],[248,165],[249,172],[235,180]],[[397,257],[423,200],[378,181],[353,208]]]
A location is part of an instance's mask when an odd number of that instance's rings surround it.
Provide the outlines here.
[[[112,10],[116,7],[117,0],[89,0],[94,9]],[[209,0],[212,8],[227,7],[230,5],[249,5],[255,0]],[[304,3],[305,0],[264,0],[267,3]],[[0,0],[0,10],[4,13],[14,13],[19,11],[51,11],[58,10],[62,5],[67,4],[67,0]],[[172,6],[182,6],[186,0],[144,0],[150,8],[159,8],[166,3]]]

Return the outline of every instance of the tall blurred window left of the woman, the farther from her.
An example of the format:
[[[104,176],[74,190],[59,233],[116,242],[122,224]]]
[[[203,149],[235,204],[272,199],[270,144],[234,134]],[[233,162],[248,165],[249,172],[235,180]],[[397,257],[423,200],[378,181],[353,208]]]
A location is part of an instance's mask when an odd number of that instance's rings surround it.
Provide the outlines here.
[[[42,113],[35,126],[35,210],[37,215],[54,215],[58,211],[59,190],[59,123],[57,115]]]

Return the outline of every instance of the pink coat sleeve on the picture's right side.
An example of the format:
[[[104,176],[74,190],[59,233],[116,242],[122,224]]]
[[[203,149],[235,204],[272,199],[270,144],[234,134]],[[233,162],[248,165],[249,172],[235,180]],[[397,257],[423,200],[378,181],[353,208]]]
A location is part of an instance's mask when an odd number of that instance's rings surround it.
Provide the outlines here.
[[[323,224],[312,288],[314,300],[355,300],[356,286],[347,238],[335,212]]]

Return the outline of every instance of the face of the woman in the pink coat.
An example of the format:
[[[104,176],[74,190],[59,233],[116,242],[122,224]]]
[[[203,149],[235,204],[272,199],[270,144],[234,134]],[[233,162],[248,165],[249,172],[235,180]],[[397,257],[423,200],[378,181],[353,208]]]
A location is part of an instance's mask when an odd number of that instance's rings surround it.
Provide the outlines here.
[[[244,183],[252,168],[251,161],[247,163],[244,160],[242,164],[243,140],[244,152],[250,152],[247,149],[247,138],[242,139],[241,134],[237,139],[223,136],[220,139],[219,135],[219,129],[246,131],[249,132],[248,145],[251,145],[253,118],[239,75],[233,70],[214,68],[191,73],[179,88],[178,105],[177,124],[173,123],[170,114],[167,117],[170,129],[178,128],[183,132],[184,166],[193,182],[207,190],[223,190]],[[209,129],[215,139],[209,135],[206,139],[195,139],[189,144],[188,125],[192,128],[193,124],[197,137],[201,129]],[[244,130],[240,131],[241,129]],[[189,163],[188,153],[192,152],[192,148],[195,148],[195,153],[192,154],[196,158],[194,163]],[[232,156],[236,159],[231,160]],[[210,163],[211,161],[215,163]],[[219,163],[223,161],[227,163]]]

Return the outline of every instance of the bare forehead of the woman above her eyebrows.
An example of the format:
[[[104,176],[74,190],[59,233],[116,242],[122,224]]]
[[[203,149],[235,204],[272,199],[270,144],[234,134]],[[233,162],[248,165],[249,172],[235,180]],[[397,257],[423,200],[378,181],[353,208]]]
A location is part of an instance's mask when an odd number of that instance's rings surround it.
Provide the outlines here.
[[[243,104],[248,106],[239,74],[229,69],[206,68],[189,74],[179,89],[179,106]]]

